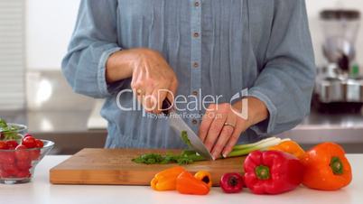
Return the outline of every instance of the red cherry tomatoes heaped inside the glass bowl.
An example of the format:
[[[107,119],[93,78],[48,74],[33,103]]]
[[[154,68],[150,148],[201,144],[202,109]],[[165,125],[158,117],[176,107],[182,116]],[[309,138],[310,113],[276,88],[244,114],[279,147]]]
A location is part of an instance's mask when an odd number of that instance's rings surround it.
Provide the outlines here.
[[[16,140],[0,141],[0,178],[30,178],[32,162],[40,158],[42,140],[25,134],[18,144]]]

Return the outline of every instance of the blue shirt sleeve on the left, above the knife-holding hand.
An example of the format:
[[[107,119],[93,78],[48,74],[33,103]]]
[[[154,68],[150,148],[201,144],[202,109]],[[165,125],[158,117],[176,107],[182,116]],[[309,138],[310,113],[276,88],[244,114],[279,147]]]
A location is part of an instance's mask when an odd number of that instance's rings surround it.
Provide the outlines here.
[[[117,44],[116,0],[82,0],[62,72],[76,93],[108,97],[124,81],[107,84],[108,57],[121,48]]]

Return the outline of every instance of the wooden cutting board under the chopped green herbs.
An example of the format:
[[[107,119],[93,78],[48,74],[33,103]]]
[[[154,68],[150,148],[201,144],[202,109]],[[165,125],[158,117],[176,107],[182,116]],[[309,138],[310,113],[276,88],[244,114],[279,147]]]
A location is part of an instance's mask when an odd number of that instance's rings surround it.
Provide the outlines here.
[[[131,160],[143,153],[180,153],[180,150],[83,149],[50,171],[53,184],[149,185],[157,172],[176,164],[139,164]],[[223,173],[242,172],[244,157],[183,165],[190,172],[208,171],[214,186]]]

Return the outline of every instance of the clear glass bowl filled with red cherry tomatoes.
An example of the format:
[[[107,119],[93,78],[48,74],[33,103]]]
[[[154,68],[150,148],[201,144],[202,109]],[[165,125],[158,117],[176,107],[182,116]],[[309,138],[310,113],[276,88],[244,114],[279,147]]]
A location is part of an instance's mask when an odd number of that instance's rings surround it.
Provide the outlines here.
[[[35,167],[51,151],[54,143],[24,134],[20,140],[0,141],[0,183],[32,181]]]

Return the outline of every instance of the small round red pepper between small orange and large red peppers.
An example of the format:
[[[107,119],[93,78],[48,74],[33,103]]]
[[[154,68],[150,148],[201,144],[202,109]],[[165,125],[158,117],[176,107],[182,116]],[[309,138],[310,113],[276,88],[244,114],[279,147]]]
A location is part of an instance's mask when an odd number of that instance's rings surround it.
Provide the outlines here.
[[[219,185],[226,193],[237,193],[243,189],[243,178],[237,172],[228,172],[220,178]]]

